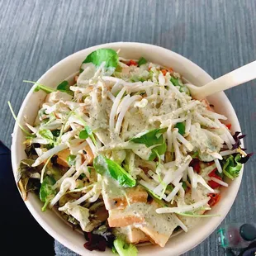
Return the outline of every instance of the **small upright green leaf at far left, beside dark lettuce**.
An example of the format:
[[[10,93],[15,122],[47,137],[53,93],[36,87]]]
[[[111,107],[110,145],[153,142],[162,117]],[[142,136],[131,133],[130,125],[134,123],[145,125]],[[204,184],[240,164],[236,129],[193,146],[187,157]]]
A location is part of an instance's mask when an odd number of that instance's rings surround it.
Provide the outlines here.
[[[44,201],[45,205],[42,207],[42,211],[46,210],[46,207],[50,203],[50,201],[55,197],[56,191],[53,189],[53,185],[55,184],[55,178],[51,176],[46,176],[44,178],[43,183],[40,187],[39,197],[40,201]]]

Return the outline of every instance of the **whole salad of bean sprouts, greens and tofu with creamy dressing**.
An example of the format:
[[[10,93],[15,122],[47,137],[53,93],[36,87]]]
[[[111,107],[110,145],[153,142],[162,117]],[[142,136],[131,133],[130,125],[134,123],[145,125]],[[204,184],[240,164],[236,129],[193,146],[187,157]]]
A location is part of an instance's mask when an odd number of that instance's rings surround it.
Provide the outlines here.
[[[173,232],[216,216],[207,211],[220,187],[251,154],[240,146],[244,135],[186,83],[171,68],[111,49],[88,55],[73,81],[35,83],[47,95],[36,121],[19,125],[24,200],[35,192],[42,211],[83,232],[86,249],[130,256],[135,244],[164,247]]]

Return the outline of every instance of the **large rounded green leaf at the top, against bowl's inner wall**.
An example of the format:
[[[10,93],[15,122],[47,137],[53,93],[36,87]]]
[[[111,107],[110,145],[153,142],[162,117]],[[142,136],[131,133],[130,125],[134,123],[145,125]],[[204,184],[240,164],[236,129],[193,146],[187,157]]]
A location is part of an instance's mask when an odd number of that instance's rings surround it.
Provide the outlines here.
[[[116,68],[118,63],[118,55],[116,54],[116,51],[112,49],[98,49],[92,51],[92,53],[83,60],[83,63],[92,63],[98,67],[104,61],[107,68]]]

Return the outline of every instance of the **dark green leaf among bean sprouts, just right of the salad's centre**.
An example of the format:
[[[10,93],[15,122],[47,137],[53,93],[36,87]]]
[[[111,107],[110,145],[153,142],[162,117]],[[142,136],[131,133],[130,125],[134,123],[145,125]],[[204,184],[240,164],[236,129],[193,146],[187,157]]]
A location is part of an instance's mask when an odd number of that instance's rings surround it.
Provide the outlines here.
[[[133,141],[138,144],[145,144],[146,147],[151,147],[153,145],[157,145],[152,149],[152,154],[149,156],[149,161],[152,161],[156,158],[158,153],[159,155],[164,154],[167,145],[164,141],[164,132],[167,130],[167,128],[159,128],[154,130],[149,130],[143,135],[140,135],[139,137],[134,137],[130,139],[130,141]]]

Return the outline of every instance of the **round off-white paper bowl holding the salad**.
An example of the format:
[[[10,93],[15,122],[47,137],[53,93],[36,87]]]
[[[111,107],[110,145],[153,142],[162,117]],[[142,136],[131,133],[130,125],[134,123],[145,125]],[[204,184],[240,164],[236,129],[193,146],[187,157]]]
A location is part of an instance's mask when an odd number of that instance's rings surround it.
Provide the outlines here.
[[[38,82],[52,88],[56,87],[56,85],[65,78],[68,78],[70,75],[73,75],[73,73],[78,72],[83,59],[85,59],[93,50],[97,50],[99,48],[111,48],[114,50],[120,49],[120,55],[127,59],[139,59],[141,56],[144,56],[145,59],[149,59],[151,62],[172,67],[178,73],[183,74],[183,76],[191,83],[198,86],[209,83],[212,80],[211,76],[198,67],[197,64],[192,63],[192,61],[174,53],[171,50],[155,45],[118,42],[106,45],[97,45],[85,50],[80,50],[55,64],[38,80]],[[45,92],[33,92],[33,88],[31,88],[31,91],[27,94],[19,111],[18,120],[21,124],[24,123],[25,118],[27,122],[31,124],[33,123],[36,118],[40,102],[42,102],[44,98]],[[228,116],[229,122],[232,124],[233,131],[240,130],[239,121],[234,108],[225,96],[224,92],[216,93],[216,95],[208,97],[208,100],[215,106],[215,110],[217,112]],[[24,135],[16,124],[12,137],[12,168],[15,176],[21,159],[26,158],[26,154],[24,152],[25,147],[22,145],[23,141]],[[211,212],[209,212],[209,214],[219,213],[221,215],[220,217],[201,219],[200,225],[193,227],[187,233],[183,232],[179,235],[175,235],[173,238],[169,239],[168,244],[166,244],[164,248],[160,248],[155,245],[141,246],[139,249],[139,255],[149,256],[161,254],[161,256],[177,256],[187,252],[197,244],[200,244],[201,241],[206,239],[214,230],[216,230],[216,227],[220,225],[220,222],[225,218],[228,211],[230,211],[230,207],[235,201],[235,197],[239,190],[242,173],[243,170],[241,170],[239,178],[236,178],[235,181],[231,182],[228,188],[222,189],[220,202],[211,210]],[[42,203],[34,194],[29,194],[25,204],[39,224],[51,236],[77,254],[112,255],[110,250],[104,253],[99,253],[97,251],[90,252],[87,249],[84,249],[83,244],[85,239],[83,238],[83,235],[73,231],[69,225],[65,224],[63,220],[60,220],[53,211],[48,210],[42,212]]]

